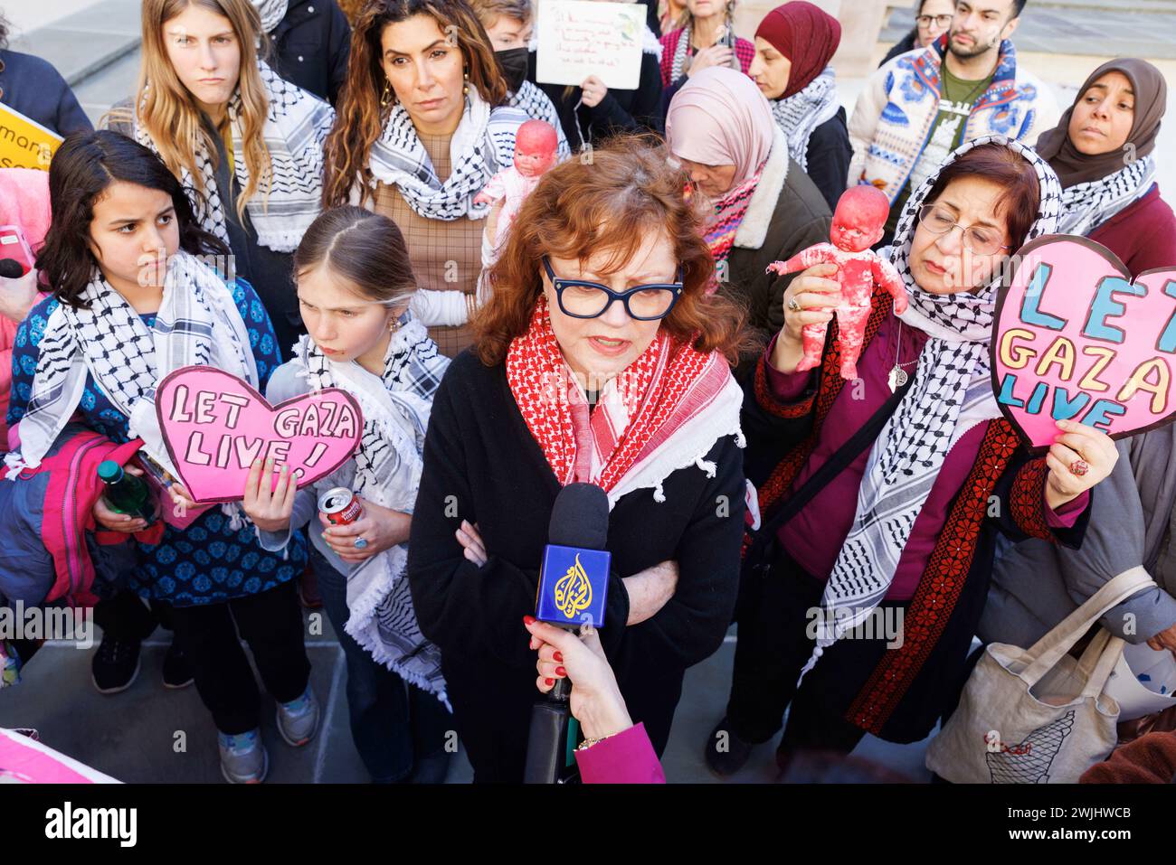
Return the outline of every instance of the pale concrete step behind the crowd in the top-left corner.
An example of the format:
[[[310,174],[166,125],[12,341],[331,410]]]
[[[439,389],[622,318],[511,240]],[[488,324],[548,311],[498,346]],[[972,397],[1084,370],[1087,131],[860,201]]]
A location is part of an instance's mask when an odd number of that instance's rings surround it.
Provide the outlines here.
[[[100,0],[53,24],[13,40],[12,49],[53,63],[71,86],[78,86],[139,47],[139,0]]]

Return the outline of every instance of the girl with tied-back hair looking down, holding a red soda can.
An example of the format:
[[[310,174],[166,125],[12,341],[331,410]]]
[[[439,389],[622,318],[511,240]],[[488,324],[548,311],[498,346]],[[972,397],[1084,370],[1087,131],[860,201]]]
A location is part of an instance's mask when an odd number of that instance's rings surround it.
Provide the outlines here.
[[[354,460],[298,494],[282,483],[270,490],[255,465],[245,510],[270,549],[286,545],[290,525],[321,523],[309,530],[310,558],[347,657],[352,738],[372,779],[441,782],[450,726],[441,655],[416,625],[405,565],[425,429],[449,358],[408,309],[416,280],[388,217],[327,210],[294,264],[308,335],[266,395],[276,404],[342,388],[363,410],[363,440]],[[363,508],[349,525],[318,514],[318,496],[340,487]]]

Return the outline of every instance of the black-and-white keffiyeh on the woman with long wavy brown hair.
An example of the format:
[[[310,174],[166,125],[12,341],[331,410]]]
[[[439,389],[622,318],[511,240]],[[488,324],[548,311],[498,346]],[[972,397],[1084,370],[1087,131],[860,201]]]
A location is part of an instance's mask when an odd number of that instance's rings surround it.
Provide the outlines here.
[[[473,199],[514,160],[515,134],[527,120],[519,108],[502,106],[492,110],[470,87],[461,122],[449,142],[452,172],[442,183],[412,118],[397,102],[372,145],[368,170],[381,183],[400,189],[408,206],[425,219],[485,219],[489,204],[474,204]]]

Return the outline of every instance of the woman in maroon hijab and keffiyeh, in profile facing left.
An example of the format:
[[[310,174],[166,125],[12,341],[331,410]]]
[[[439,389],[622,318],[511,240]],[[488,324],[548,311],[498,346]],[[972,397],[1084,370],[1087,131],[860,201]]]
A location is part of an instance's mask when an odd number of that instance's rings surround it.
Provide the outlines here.
[[[788,153],[811,177],[829,209],[846,192],[854,154],[846,109],[829,61],[841,45],[841,24],[804,0],[777,6],[755,32],[755,60],[747,74],[768,98]]]

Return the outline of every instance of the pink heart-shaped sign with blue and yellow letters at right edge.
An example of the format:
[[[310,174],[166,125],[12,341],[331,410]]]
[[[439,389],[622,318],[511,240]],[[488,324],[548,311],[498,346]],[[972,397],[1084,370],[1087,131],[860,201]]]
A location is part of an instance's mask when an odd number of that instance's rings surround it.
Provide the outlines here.
[[[1047,235],[1014,256],[991,344],[1001,411],[1035,452],[1055,421],[1123,438],[1176,420],[1176,267],[1131,280],[1085,237]]]

